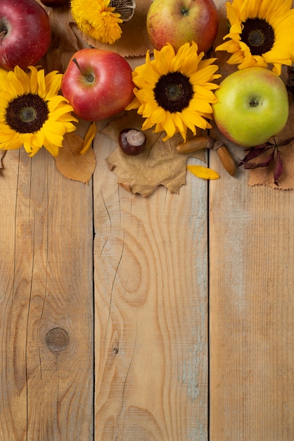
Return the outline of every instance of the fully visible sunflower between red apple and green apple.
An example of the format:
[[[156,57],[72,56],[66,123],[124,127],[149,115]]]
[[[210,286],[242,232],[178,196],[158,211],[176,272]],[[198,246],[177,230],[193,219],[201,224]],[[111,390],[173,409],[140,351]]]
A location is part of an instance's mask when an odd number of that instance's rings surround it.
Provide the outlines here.
[[[181,133],[186,140],[187,128],[196,135],[196,126],[211,128],[206,118],[212,118],[211,104],[217,102],[210,81],[219,78],[216,58],[203,60],[204,52],[197,54],[195,42],[183,44],[177,51],[167,43],[160,51],[154,50],[151,61],[149,51],[146,63],[135,68],[133,81],[135,97],[127,110],[134,108],[146,118],[142,130],[152,128],[166,132],[163,140]]]

